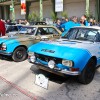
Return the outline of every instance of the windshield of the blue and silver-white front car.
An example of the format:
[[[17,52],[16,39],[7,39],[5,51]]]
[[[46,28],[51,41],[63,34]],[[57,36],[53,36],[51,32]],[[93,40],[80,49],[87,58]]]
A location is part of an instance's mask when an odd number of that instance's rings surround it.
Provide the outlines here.
[[[72,28],[65,36],[68,40],[95,41],[98,30],[89,28]]]

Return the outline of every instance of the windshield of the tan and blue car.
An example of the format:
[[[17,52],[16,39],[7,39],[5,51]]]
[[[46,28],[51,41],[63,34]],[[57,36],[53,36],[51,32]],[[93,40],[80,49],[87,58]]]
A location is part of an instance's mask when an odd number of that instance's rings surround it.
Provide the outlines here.
[[[22,27],[19,31],[19,34],[34,35],[36,27]]]

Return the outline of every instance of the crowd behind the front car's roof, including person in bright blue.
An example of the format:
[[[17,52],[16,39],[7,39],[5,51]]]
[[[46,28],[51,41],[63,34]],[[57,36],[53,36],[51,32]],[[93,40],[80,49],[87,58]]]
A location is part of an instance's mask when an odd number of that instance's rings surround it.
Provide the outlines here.
[[[76,16],[72,16],[70,19],[62,17],[62,19],[57,19],[55,26],[62,32],[68,31],[74,26],[100,26],[95,19],[90,18],[87,20],[86,15],[83,15],[80,20]]]

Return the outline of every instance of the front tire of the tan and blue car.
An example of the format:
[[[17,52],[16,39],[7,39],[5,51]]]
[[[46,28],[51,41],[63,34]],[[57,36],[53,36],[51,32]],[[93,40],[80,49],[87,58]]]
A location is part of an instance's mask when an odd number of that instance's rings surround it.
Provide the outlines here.
[[[27,51],[24,47],[18,47],[14,50],[12,59],[15,62],[24,61],[27,58]]]

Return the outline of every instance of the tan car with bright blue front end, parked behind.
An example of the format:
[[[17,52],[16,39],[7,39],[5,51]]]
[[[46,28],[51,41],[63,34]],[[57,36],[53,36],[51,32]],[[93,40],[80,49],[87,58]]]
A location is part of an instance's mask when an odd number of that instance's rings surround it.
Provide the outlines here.
[[[23,61],[27,57],[29,46],[40,40],[59,38],[60,34],[61,32],[53,26],[23,26],[19,34],[0,38],[0,54],[11,56],[16,62]]]

